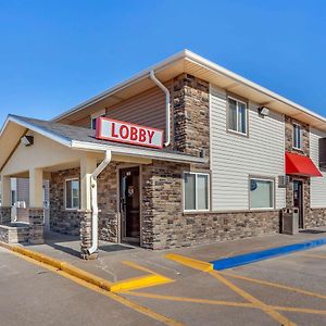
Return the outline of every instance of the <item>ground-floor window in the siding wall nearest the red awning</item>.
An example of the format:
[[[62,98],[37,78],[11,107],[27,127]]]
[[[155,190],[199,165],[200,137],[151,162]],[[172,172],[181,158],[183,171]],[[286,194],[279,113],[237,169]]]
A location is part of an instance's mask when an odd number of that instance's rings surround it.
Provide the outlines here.
[[[250,209],[274,208],[274,180],[250,179]]]

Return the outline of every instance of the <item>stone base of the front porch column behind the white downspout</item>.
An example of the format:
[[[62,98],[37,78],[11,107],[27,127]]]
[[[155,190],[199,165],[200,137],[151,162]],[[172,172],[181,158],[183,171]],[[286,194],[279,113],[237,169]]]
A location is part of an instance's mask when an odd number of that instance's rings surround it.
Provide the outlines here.
[[[88,248],[91,247],[91,211],[80,210],[80,258],[83,260],[96,260],[98,252],[88,253]]]

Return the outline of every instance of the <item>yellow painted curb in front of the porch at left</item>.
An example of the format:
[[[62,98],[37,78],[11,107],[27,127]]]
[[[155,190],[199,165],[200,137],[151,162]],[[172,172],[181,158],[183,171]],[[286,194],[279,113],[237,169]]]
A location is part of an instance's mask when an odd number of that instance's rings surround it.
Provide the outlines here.
[[[75,267],[75,266],[68,264],[67,262],[59,261],[59,260],[52,259],[52,258],[50,258],[46,254],[25,249],[23,247],[8,244],[8,243],[1,242],[1,241],[0,241],[0,247],[3,247],[3,248],[5,248],[8,250],[11,250],[13,252],[17,252],[22,255],[34,259],[34,260],[36,260],[40,263],[50,265],[50,266],[52,266],[57,269],[65,272],[66,274],[70,274],[74,277],[80,278],[80,279],[83,279],[83,280],[85,280],[85,281],[87,281],[91,285],[95,285],[99,288],[102,288],[106,291],[111,291],[111,286],[113,285],[111,281],[109,281],[104,278],[101,278],[101,277],[98,277],[98,276],[96,276],[93,274],[90,274],[88,272],[85,272],[85,271],[83,271],[78,267]]]

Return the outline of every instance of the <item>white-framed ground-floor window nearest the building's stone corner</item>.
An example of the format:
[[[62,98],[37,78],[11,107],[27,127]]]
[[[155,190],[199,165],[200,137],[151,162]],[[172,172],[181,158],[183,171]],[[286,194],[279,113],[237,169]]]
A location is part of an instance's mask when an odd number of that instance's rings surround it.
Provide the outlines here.
[[[209,210],[209,174],[184,174],[184,209],[185,211]]]

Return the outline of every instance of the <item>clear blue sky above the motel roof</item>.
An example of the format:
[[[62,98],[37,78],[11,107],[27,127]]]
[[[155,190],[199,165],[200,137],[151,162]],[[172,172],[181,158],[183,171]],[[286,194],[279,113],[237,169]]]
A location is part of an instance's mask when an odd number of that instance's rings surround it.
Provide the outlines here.
[[[192,50],[326,115],[326,2],[0,0],[0,123],[50,118]]]

